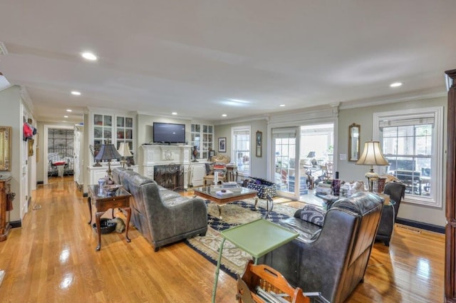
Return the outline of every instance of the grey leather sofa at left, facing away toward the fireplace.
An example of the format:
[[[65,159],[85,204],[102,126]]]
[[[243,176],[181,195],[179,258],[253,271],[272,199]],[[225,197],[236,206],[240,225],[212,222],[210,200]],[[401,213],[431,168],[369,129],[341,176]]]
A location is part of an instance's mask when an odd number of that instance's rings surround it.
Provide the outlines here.
[[[113,168],[113,180],[132,195],[131,222],[155,252],[164,245],[206,235],[207,206],[201,198],[184,197],[125,168]]]

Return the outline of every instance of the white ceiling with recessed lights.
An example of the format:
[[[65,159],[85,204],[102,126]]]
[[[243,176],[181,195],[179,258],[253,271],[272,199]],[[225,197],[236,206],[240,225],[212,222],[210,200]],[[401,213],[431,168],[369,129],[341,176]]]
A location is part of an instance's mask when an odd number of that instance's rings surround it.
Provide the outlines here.
[[[444,96],[455,28],[454,0],[2,0],[0,71],[37,120],[90,107],[223,123]]]

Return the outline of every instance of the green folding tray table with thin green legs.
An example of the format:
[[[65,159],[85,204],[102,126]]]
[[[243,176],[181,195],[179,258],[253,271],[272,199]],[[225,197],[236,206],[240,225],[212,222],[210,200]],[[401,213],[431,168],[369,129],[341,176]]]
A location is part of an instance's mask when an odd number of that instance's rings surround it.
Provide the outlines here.
[[[212,289],[212,303],[215,302],[215,292],[217,291],[217,282],[219,280],[220,262],[222,260],[222,251],[225,240],[232,242],[241,250],[249,253],[255,259],[255,265],[258,258],[266,255],[271,250],[290,242],[298,237],[297,232],[287,230],[280,225],[276,225],[268,220],[259,219],[243,225],[232,227],[224,230],[222,234],[222,243],[220,243],[219,258],[217,260],[217,269],[215,269],[214,288]]]

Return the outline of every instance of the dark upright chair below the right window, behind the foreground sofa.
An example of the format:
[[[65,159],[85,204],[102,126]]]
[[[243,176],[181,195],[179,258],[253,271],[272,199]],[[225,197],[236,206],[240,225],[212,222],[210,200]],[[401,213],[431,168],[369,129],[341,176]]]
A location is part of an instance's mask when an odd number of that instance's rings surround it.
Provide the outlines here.
[[[406,185],[403,183],[390,182],[386,183],[383,193],[390,195],[390,200],[394,201],[394,205],[383,205],[382,216],[380,217],[380,225],[378,225],[377,236],[375,240],[383,241],[386,246],[390,246],[391,236],[393,235],[394,224],[398,217],[400,200],[405,194]]]

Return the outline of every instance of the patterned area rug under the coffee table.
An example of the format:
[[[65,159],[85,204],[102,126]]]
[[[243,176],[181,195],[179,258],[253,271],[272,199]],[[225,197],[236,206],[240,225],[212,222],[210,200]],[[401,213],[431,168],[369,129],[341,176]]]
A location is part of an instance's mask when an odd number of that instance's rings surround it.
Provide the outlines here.
[[[259,200],[255,210],[254,199],[232,202],[222,206],[222,220],[219,219],[219,210],[217,205],[212,202],[207,203],[207,234],[204,237],[193,237],[186,240],[187,245],[206,257],[207,260],[217,265],[219,256],[219,247],[222,242],[220,232],[227,230],[239,224],[257,220],[264,217],[266,214],[266,200]],[[288,217],[292,217],[296,212],[296,208],[286,205],[275,204],[273,210],[269,213],[267,220],[271,222],[279,222]],[[237,274],[242,275],[244,267],[252,256],[232,245],[231,242],[225,241],[223,246],[222,262],[220,269],[232,277]]]

